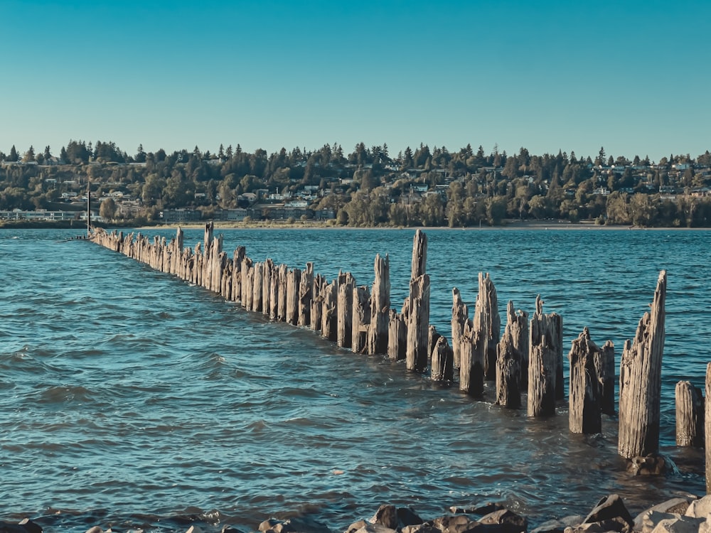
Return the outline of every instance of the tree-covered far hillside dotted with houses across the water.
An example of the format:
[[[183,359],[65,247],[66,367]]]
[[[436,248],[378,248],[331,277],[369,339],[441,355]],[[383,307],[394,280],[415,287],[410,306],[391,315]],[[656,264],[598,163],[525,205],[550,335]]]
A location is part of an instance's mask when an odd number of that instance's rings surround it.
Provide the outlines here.
[[[112,142],[0,151],[0,222],[139,226],[203,220],[353,227],[479,227],[564,220],[711,227],[711,154],[648,157],[506,154],[420,144],[390,154],[359,143],[254,153]],[[87,205],[89,206],[87,210]]]

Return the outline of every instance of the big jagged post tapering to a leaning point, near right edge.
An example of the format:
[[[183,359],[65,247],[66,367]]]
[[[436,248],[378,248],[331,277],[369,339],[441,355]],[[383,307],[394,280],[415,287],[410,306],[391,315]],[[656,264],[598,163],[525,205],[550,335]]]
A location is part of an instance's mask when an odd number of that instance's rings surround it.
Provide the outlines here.
[[[618,452],[626,459],[659,451],[666,282],[666,271],[663,270],[654,291],[651,311],[644,313],[634,341],[626,340],[622,350]]]

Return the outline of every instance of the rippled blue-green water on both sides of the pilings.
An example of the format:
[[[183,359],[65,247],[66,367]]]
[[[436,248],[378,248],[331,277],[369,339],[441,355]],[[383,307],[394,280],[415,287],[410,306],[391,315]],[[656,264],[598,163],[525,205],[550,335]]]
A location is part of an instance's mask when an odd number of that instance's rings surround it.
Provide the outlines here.
[[[269,323],[75,231],[3,230],[0,257],[0,519],[52,530],[184,531],[308,514],[333,531],[381,503],[423,517],[496,500],[528,515],[585,514],[618,492],[639,511],[704,492],[702,453],[674,446],[674,386],[702,386],[709,359],[707,231],[431,230],[432,323],[450,336],[451,288],[476,299],[479,271],[506,301],[589,326],[619,362],[668,270],[662,446],[666,478],[632,478],[616,421],[573,436],[567,411],[531,420],[431,384],[402,363],[353,355]],[[226,230],[257,261],[373,281],[390,254],[392,306],[407,291],[412,230]],[[149,236],[172,237],[174,231]],[[188,230],[186,244],[202,240]],[[491,389],[488,398],[492,397]]]

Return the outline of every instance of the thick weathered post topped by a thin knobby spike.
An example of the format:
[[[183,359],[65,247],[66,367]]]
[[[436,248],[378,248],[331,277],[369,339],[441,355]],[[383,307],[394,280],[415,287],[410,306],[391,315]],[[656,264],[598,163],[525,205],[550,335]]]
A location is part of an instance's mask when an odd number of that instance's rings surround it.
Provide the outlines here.
[[[562,343],[562,317],[556,313],[544,315],[543,301],[536,296],[528,342],[528,416],[555,414]]]

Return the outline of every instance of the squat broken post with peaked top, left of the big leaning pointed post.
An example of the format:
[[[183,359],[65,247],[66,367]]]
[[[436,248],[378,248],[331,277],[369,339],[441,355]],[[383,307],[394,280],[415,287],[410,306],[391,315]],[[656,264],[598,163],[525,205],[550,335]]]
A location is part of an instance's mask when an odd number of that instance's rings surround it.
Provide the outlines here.
[[[602,379],[596,360],[602,350],[590,339],[584,328],[573,340],[568,354],[570,361],[570,408],[568,425],[571,433],[602,432]]]

